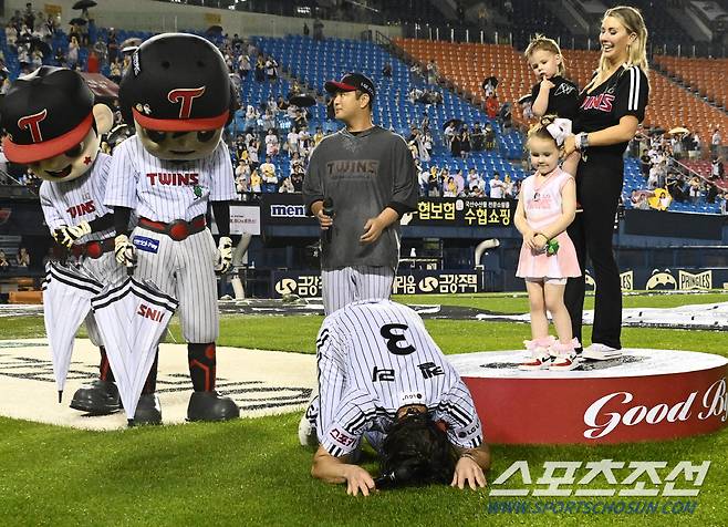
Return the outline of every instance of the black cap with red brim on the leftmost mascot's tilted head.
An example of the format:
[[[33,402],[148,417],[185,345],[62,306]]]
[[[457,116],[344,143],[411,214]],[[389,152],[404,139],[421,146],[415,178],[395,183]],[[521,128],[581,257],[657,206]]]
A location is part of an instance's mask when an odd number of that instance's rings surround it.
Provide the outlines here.
[[[2,101],[2,148],[13,163],[55,157],[83,141],[93,125],[94,94],[66,68],[41,66],[18,78]]]

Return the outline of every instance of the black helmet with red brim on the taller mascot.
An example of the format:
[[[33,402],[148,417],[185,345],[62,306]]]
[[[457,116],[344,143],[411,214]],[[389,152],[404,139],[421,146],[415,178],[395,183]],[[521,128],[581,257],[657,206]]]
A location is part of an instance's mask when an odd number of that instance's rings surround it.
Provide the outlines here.
[[[124,120],[160,132],[221,128],[235,110],[231,95],[220,51],[187,33],[143,42],[118,89]]]

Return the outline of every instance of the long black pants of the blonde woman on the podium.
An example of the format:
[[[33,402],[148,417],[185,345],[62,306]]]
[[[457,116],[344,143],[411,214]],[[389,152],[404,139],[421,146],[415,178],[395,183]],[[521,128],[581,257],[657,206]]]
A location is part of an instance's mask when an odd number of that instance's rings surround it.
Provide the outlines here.
[[[612,251],[614,217],[622,193],[624,162],[622,156],[590,156],[579,164],[576,200],[583,211],[568,229],[574,242],[582,272],[586,256],[594,269],[596,293],[592,342],[621,349],[622,288],[620,270]],[[570,278],[564,291],[564,303],[571,317],[574,337],[582,342],[581,322],[584,310],[584,277]]]

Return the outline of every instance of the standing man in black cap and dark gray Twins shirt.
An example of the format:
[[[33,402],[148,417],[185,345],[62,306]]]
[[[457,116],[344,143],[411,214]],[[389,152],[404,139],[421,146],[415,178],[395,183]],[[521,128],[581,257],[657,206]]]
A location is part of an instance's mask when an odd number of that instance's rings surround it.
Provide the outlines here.
[[[331,314],[355,300],[389,298],[399,218],[416,209],[419,190],[405,141],[372,123],[374,83],[347,73],[325,87],[346,126],[311,154],[303,198],[322,229],[322,294]]]

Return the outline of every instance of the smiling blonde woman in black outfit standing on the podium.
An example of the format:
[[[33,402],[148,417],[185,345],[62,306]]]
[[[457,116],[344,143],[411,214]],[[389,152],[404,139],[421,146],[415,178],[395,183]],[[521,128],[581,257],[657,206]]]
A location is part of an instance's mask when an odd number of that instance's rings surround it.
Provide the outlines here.
[[[576,200],[583,211],[569,227],[569,236],[580,267],[584,269],[589,255],[596,279],[592,345],[584,350],[587,359],[610,359],[622,348],[622,291],[612,235],[624,179],[622,154],[645,116],[649,94],[647,28],[639,11],[624,6],[609,9],[600,43],[599,69],[579,97],[574,125],[579,133],[564,142],[565,155],[574,151],[582,155]],[[584,277],[570,278],[564,296],[580,341],[584,289]]]

